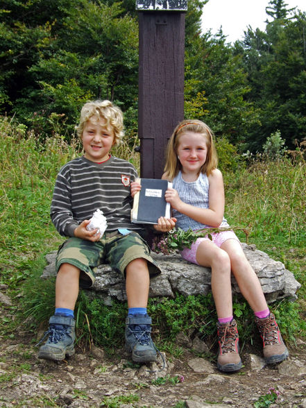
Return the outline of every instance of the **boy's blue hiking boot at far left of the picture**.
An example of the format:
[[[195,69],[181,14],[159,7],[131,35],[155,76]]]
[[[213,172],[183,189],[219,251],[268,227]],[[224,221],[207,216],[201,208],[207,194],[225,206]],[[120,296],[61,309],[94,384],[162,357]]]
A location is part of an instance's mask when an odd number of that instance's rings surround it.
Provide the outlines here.
[[[44,333],[40,343],[49,336],[49,339],[40,347],[39,359],[63,360],[65,356],[74,355],[74,318],[65,316],[51,316],[49,329]],[[38,345],[37,345],[38,346]]]

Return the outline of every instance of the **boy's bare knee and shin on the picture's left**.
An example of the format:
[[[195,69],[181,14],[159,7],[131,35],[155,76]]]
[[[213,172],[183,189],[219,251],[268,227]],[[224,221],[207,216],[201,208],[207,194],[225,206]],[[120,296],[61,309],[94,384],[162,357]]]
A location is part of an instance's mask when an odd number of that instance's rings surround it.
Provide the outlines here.
[[[80,269],[62,264],[56,277],[56,307],[74,310],[78,298]]]

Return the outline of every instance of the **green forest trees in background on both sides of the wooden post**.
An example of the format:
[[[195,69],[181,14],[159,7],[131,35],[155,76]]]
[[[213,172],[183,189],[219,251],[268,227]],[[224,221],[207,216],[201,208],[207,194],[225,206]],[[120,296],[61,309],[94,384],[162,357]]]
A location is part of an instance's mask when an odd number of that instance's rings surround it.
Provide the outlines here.
[[[185,116],[202,119],[239,152],[262,151],[279,132],[288,148],[306,137],[305,12],[266,0],[264,31],[229,44],[201,32],[207,0],[189,0]],[[137,134],[138,21],[135,2],[6,0],[0,9],[0,114],[47,138],[74,135],[88,99],[111,99]]]

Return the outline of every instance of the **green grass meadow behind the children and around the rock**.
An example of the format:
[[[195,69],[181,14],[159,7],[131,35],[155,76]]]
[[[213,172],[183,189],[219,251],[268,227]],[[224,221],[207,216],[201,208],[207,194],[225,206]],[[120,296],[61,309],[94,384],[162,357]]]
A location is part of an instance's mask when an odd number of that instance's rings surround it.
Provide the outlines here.
[[[0,319],[0,339],[13,337],[17,325],[31,317],[33,330],[53,313],[54,280],[41,280],[44,255],[62,242],[49,219],[53,185],[60,167],[80,154],[71,138],[68,144],[58,134],[40,141],[22,124],[0,117],[0,284],[15,298],[9,314],[15,320]],[[65,134],[65,133],[63,133]],[[130,139],[113,152],[133,162],[139,169],[139,153]],[[239,160],[236,161],[237,163]],[[248,167],[237,165],[224,173],[226,217],[235,226],[248,228],[249,241],[257,248],[284,262],[302,288],[296,303],[287,300],[272,305],[285,339],[306,337],[305,310],[305,196],[306,164],[283,158],[278,162],[255,161]],[[245,236],[242,234],[242,240]],[[201,339],[214,338],[216,315],[211,296],[178,296],[175,300],[151,299],[148,310],[154,321],[154,338],[161,350],[179,355],[174,345],[180,331]],[[302,312],[300,312],[302,310]],[[241,344],[252,341],[252,314],[246,303],[234,300],[239,317]],[[80,291],[76,307],[79,345],[88,341],[109,347],[121,346],[126,305],[103,305]],[[200,329],[199,329],[200,328]],[[165,345],[164,348],[163,344]]]

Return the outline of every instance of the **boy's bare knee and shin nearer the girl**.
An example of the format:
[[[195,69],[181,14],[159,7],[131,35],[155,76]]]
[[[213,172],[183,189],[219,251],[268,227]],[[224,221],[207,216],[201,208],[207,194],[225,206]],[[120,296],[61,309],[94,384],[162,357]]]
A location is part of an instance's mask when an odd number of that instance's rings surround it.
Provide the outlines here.
[[[126,296],[128,307],[146,307],[150,276],[144,258],[137,258],[126,266]]]

